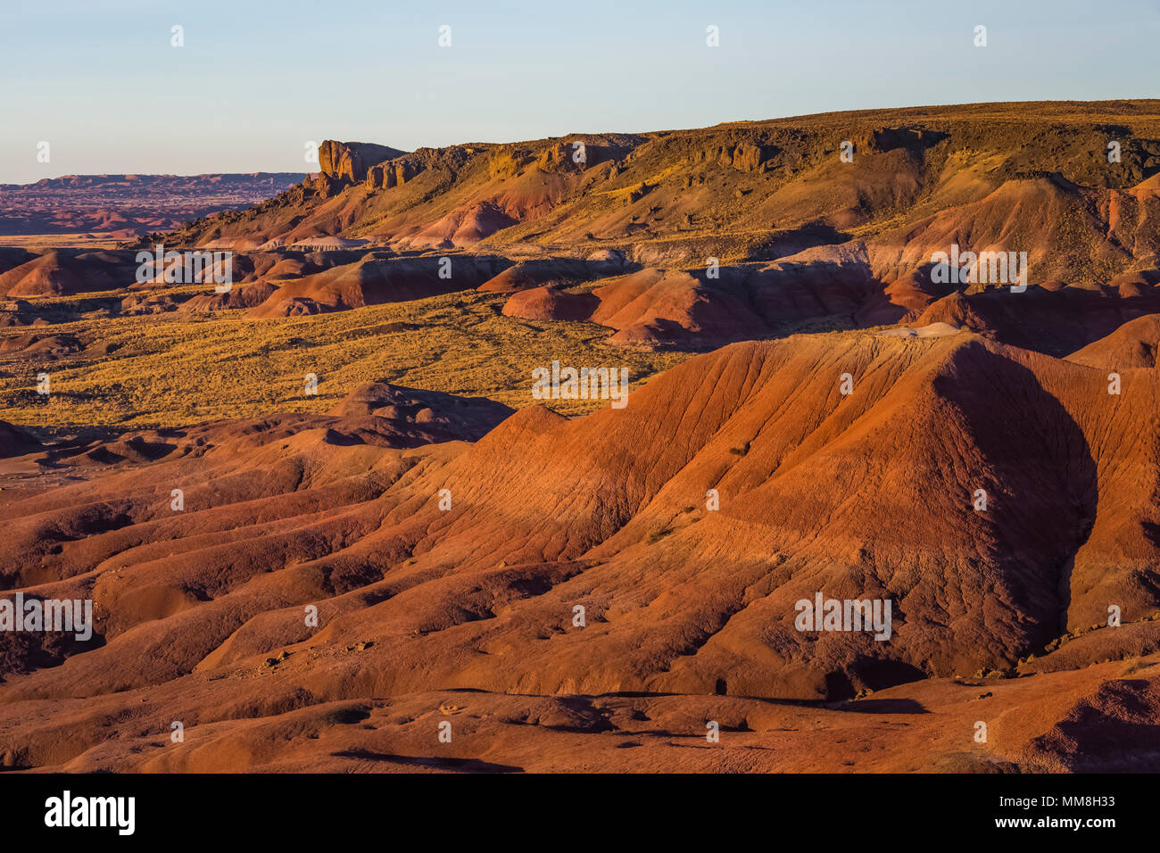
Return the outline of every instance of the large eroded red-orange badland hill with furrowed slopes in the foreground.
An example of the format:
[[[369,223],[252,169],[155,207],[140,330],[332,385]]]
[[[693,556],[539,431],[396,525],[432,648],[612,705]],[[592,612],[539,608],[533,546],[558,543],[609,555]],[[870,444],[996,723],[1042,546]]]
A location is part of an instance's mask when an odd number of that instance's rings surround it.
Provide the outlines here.
[[[506,412],[368,389],[329,418],[99,446],[87,456],[111,472],[5,498],[9,588],[92,597],[104,641],[9,648],[8,760],[225,768],[252,744],[255,766],[290,720],[326,729],[350,702],[363,720],[378,697],[452,688],[486,692],[469,694],[479,709],[841,700],[1014,672],[1109,603],[1126,627],[1096,631],[1083,659],[1151,651],[1160,386],[1125,369],[1109,395],[1105,373],[967,333],[800,337],[686,362],[623,410],[528,409],[474,444],[425,442],[477,439]],[[818,592],[892,601],[891,637],[797,630]],[[1083,684],[1074,701],[1152,689]],[[1041,760],[1066,708],[1032,693],[1034,722],[985,760]],[[318,717],[333,702],[348,704]],[[133,749],[171,718],[218,758]],[[137,733],[110,739],[126,720]],[[1094,760],[1056,738],[1052,760]]]

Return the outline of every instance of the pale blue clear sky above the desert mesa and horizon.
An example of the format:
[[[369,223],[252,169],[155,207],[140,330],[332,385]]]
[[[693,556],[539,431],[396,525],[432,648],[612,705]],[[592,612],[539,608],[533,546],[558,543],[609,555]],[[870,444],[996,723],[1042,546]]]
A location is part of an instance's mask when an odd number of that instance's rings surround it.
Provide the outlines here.
[[[0,183],[310,172],[322,139],[1157,97],[1158,36],[1160,0],[0,0]]]

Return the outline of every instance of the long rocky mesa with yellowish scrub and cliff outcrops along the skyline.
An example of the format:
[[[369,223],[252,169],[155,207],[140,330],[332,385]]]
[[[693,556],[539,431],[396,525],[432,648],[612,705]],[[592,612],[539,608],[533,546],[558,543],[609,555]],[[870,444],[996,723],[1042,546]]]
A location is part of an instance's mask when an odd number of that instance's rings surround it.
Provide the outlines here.
[[[1092,156],[1108,146],[1109,126],[1126,128],[1117,131],[1115,169]],[[1029,284],[1102,285],[1157,267],[1160,118],[1152,101],[858,110],[393,153],[328,142],[317,178],[248,210],[190,223],[169,241],[253,248],[370,240],[408,251],[484,243],[519,247],[521,258],[610,250],[672,270],[706,258],[769,262],[857,236],[873,277],[897,284],[885,296],[878,288],[872,319],[880,321],[912,311],[916,319],[928,297],[948,295],[930,290],[931,258],[951,246],[1025,252]],[[328,203],[340,195],[341,204]],[[850,310],[867,298],[864,279],[848,294],[858,299]],[[688,292],[694,285],[682,281]]]

